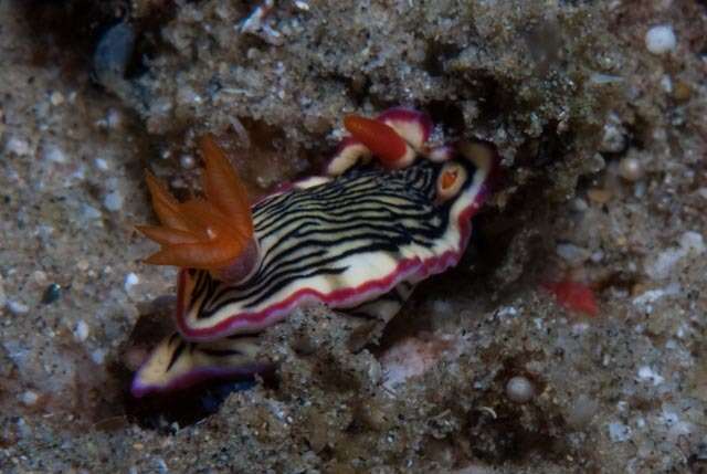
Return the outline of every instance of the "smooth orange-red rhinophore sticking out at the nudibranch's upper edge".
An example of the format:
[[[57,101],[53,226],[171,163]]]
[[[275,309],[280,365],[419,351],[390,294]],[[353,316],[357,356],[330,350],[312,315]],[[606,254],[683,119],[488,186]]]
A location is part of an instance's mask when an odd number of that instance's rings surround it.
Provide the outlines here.
[[[344,117],[344,126],[386,164],[392,165],[408,152],[405,140],[381,122],[359,115],[347,115]]]

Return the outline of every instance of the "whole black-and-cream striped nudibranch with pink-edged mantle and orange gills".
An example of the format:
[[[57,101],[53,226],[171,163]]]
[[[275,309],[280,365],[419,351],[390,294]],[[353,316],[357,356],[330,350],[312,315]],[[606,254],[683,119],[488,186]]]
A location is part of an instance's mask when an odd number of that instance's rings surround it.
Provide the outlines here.
[[[177,331],[137,371],[135,397],[265,369],[258,333],[303,305],[387,323],[416,283],[460,261],[494,149],[431,146],[431,120],[405,108],[344,124],[350,135],[323,176],[252,207],[210,137],[203,198],[179,202],[148,175],[161,225],[138,230],[161,249],[146,262],[181,270]]]

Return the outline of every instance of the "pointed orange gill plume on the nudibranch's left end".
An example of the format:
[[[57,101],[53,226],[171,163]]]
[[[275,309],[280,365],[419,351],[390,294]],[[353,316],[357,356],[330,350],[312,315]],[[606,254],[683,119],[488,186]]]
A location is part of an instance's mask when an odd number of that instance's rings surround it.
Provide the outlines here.
[[[138,225],[137,230],[161,249],[145,262],[209,270],[219,280],[242,281],[258,261],[245,187],[213,137],[201,140],[201,151],[204,199],[179,202],[147,173],[161,225]]]

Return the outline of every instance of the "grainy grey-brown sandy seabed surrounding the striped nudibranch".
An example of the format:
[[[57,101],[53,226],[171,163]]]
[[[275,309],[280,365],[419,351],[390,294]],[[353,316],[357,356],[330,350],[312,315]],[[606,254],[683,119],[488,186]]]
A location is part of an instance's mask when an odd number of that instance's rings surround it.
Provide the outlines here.
[[[0,471],[707,472],[705,2],[255,7],[0,1]],[[175,292],[144,169],[187,196],[213,133],[255,198],[397,105],[503,157],[462,263],[374,331],[295,312],[251,389],[130,399]]]

